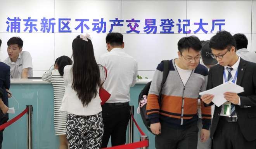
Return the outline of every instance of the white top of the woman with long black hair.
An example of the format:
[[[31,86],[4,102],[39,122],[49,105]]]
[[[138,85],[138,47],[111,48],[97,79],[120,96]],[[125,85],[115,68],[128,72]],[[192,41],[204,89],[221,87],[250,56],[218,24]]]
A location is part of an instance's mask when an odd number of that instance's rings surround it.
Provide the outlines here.
[[[87,105],[83,106],[82,101],[78,98],[77,92],[72,89],[73,83],[73,65],[67,65],[64,67],[64,83],[65,83],[65,94],[61,102],[61,107],[59,111],[66,111],[67,113],[71,113],[74,115],[95,115],[102,111],[100,106],[100,96],[97,96],[92,99],[92,101]],[[100,69],[100,78],[103,82],[105,79],[105,71],[103,67],[99,67]],[[99,92],[99,87],[98,87]]]

